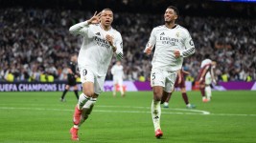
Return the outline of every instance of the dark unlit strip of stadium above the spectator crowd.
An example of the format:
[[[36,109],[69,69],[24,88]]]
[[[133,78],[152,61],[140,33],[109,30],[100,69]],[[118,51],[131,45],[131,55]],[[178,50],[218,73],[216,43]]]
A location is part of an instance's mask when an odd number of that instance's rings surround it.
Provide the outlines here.
[[[102,10],[163,13],[173,5],[184,15],[256,18],[255,2],[221,2],[210,0],[0,0],[0,8]]]

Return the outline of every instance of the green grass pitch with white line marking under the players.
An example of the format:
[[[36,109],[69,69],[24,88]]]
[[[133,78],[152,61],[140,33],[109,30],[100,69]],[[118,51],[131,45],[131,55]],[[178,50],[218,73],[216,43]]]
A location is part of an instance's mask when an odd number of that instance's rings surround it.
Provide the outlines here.
[[[59,102],[61,92],[0,92],[0,142],[68,143],[74,92]],[[104,92],[81,126],[80,142],[87,143],[255,143],[256,92],[213,92],[202,103],[199,92],[188,92],[197,105],[187,110],[180,92],[169,109],[162,109],[161,139],[154,137],[151,92],[127,92],[112,97]]]

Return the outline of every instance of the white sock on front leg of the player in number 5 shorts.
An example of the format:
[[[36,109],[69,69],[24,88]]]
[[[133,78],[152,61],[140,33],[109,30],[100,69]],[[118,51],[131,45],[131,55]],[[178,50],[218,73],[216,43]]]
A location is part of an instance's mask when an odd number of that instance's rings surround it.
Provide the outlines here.
[[[151,103],[151,116],[152,116],[152,123],[154,127],[154,131],[160,128],[160,116],[161,116],[161,107],[160,101],[152,100]]]

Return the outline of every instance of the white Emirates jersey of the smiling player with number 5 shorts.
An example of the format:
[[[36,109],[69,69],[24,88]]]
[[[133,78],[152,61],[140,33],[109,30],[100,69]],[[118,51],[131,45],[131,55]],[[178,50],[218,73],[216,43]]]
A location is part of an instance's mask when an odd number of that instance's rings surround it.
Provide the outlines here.
[[[194,42],[189,31],[179,25],[173,29],[169,29],[165,25],[154,28],[146,48],[149,46],[155,47],[151,61],[152,69],[164,71],[181,69],[183,57],[190,56],[195,52]],[[175,58],[175,50],[180,51],[179,58]]]

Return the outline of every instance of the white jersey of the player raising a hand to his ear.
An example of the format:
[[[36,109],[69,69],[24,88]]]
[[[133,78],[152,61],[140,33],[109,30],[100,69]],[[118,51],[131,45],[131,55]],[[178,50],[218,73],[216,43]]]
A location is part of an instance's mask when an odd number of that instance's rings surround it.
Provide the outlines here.
[[[112,28],[105,31],[100,24],[88,25],[87,21],[72,26],[69,31],[83,36],[78,57],[80,68],[105,76],[113,55],[113,50],[105,39],[106,34],[113,37],[113,45],[117,48],[115,53],[118,58],[123,59],[123,40],[119,31]]]

